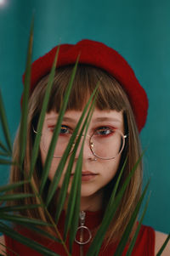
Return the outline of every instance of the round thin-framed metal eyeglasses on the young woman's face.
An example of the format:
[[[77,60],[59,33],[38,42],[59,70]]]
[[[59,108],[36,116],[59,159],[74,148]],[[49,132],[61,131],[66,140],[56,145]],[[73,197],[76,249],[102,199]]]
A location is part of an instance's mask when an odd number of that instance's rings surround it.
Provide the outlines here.
[[[52,128],[47,128],[42,134],[42,147],[46,152],[48,152],[51,139],[53,138],[53,130]],[[37,133],[34,128],[33,131]],[[59,138],[54,149],[55,158],[63,156],[72,133],[73,131],[67,126],[61,126]],[[87,135],[87,137],[89,139],[90,150],[94,156],[100,159],[110,160],[121,154],[127,134],[122,134],[122,132],[116,128],[100,127],[95,129],[92,135]],[[75,143],[72,145],[71,152],[74,149]]]

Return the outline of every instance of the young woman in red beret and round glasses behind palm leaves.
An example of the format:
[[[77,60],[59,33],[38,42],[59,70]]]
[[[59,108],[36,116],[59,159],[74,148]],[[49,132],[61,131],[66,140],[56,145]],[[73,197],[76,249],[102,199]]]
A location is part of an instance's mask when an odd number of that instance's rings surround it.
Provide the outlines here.
[[[24,168],[28,172],[30,168],[32,145],[35,134],[37,134],[37,121],[42,109],[42,100],[48,83],[48,74],[54,61],[56,49],[57,47],[36,60],[31,67],[31,96],[27,126],[28,143],[24,162]],[[42,167],[58,119],[59,108],[62,105],[65,89],[70,80],[73,66],[77,61],[78,55],[79,64],[77,73],[61,125],[59,139],[55,147],[43,198],[45,200],[47,196],[48,186],[54,179],[60,158],[65,151],[65,146],[71,138],[71,134],[77,126],[82,110],[88,102],[89,96],[93,93],[96,84],[99,82],[96,105],[88,127],[88,135],[85,139],[82,156],[80,211],[84,218],[84,225],[88,230],[89,239],[87,238],[87,243],[82,245],[77,237],[73,245],[72,253],[72,255],[81,255],[81,253],[86,255],[88,247],[95,236],[95,232],[102,221],[107,202],[111,196],[111,191],[113,191],[125,158],[127,157],[127,163],[123,170],[121,185],[132,170],[135,162],[139,159],[141,154],[139,132],[144,128],[146,121],[148,100],[144,88],[140,86],[132,68],[114,49],[107,47],[103,43],[90,40],[82,40],[75,45],[61,45],[59,48],[59,60],[57,62],[54,85],[42,128],[39,157],[32,179],[37,189],[40,186]],[[14,143],[15,160],[19,157],[18,143],[19,138],[17,135]],[[71,170],[71,181],[74,176],[79,153],[80,146],[77,150]],[[57,201],[59,189],[63,183],[64,177],[65,170],[61,175],[56,195],[49,206],[49,211],[52,216],[54,216],[54,210],[57,207],[55,202]],[[24,178],[23,175],[20,174],[20,170],[14,166],[11,171],[11,182],[22,179]],[[67,191],[68,195],[71,190],[71,181]],[[142,164],[140,163],[122,197],[121,206],[116,211],[116,215],[112,219],[111,225],[105,234],[105,241],[100,249],[99,255],[114,255],[116,243],[122,237],[122,233],[131,218],[133,209],[139,200],[141,185]],[[31,192],[31,187],[25,185],[20,191]],[[20,203],[37,203],[37,199],[35,198],[29,201],[24,200]],[[65,200],[65,210],[66,208],[67,200]],[[27,210],[25,213],[22,212],[21,214],[37,219],[48,220],[48,216],[42,209]],[[59,219],[59,231],[61,234],[63,233],[64,223],[65,211],[61,213]],[[135,230],[137,225],[138,223],[134,225],[133,230]],[[53,234],[53,230],[49,229],[48,231]],[[28,236],[28,230],[22,230],[22,234]],[[37,240],[34,234],[30,236]],[[132,255],[156,255],[166,237],[165,234],[157,232],[151,227],[142,225]],[[12,240],[8,236],[2,236],[1,242],[19,255],[40,255],[30,248],[21,245],[19,242]],[[43,241],[42,244],[59,255],[66,255],[64,248],[58,242]],[[122,255],[126,254],[127,247]],[[3,250],[4,247],[2,246],[2,251]],[[8,249],[7,252],[9,255],[14,255]],[[170,255],[169,245],[167,245],[162,255]]]

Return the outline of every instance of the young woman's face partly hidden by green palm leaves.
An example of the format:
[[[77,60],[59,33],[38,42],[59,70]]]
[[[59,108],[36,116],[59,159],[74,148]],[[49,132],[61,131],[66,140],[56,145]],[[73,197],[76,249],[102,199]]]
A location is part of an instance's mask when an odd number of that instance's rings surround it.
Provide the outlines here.
[[[65,138],[70,136],[72,131],[76,128],[77,122],[81,117],[82,111],[66,111],[65,116],[62,122],[61,132],[59,134],[59,141],[60,145],[57,149],[57,153],[63,150]],[[46,114],[45,121],[43,123],[42,135],[44,138],[41,145],[41,156],[42,156],[42,164],[44,164],[47,151],[44,150],[44,144],[48,144],[48,136],[52,136],[54,126],[57,122],[58,114],[54,111],[49,112]],[[85,145],[83,148],[83,156],[82,156],[82,193],[81,196],[94,196],[98,191],[102,191],[102,189],[107,185],[111,179],[116,174],[117,168],[119,166],[121,154],[116,156],[114,159],[104,160],[100,159],[97,156],[94,156],[93,152],[89,146],[89,138],[92,134],[94,134],[94,149],[97,146],[97,150],[99,151],[98,140],[101,141],[101,150],[103,147],[103,151],[99,152],[99,154],[103,154],[102,156],[108,156],[110,154],[110,149],[108,146],[108,141],[112,146],[112,150],[115,150],[115,145],[112,138],[112,131],[113,128],[118,129],[124,133],[124,124],[123,124],[123,117],[122,112],[117,111],[99,111],[98,109],[94,110],[93,117],[88,127],[88,136],[85,140]],[[82,137],[83,138],[83,137]],[[105,141],[106,144],[105,144]],[[82,142],[80,143],[77,155],[74,161],[73,169],[71,171],[71,180],[74,175],[74,169],[77,164],[77,157],[80,152]],[[97,159],[96,161],[94,159]],[[51,168],[49,170],[48,178],[53,180],[56,168],[59,165],[60,158],[53,158]],[[66,168],[65,168],[66,169]],[[62,185],[63,179],[65,176],[64,173],[61,176],[59,181],[59,187]],[[71,190],[71,182],[69,185],[68,192]]]

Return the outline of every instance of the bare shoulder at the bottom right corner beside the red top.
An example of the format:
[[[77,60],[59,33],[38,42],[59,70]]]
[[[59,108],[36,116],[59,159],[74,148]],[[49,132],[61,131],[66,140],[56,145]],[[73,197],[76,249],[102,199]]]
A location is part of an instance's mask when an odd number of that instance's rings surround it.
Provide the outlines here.
[[[167,234],[156,231],[156,243],[155,243],[155,254],[159,252],[161,246],[167,239]],[[170,241],[167,242],[167,247],[165,247],[161,256],[169,256],[170,255]]]

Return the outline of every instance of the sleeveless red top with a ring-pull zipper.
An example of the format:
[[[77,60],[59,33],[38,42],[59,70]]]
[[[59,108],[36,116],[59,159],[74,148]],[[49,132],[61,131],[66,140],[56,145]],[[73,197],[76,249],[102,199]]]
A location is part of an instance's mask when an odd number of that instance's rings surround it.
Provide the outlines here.
[[[101,222],[102,216],[98,213],[87,212],[85,225],[88,226],[90,230],[93,230],[96,226],[99,225]],[[59,230],[63,230],[64,227],[64,218],[63,221],[59,222]],[[58,242],[49,242],[47,239],[43,239],[43,241],[37,238],[35,233],[31,233],[29,230],[22,230],[21,231],[23,236],[30,236],[31,239],[40,242],[43,246],[48,247],[50,250],[54,251],[61,256],[67,256],[63,246]],[[13,250],[15,253],[18,253],[20,256],[40,256],[41,253],[37,253],[36,251],[32,250],[30,247],[26,247],[22,245],[20,242],[16,242],[8,236],[5,236],[6,246]],[[83,255],[86,255],[88,252],[89,243],[83,246]],[[114,255],[116,251],[116,245],[110,244],[108,247],[102,247],[99,251],[99,256],[106,256],[106,255]],[[15,253],[11,253],[7,249],[7,253],[9,256],[15,256]],[[127,253],[127,247],[125,247],[122,256],[125,256]],[[80,246],[77,242],[74,242],[72,255],[80,256]],[[139,231],[139,236],[137,237],[137,241],[135,246],[133,247],[132,256],[154,256],[155,255],[155,230],[153,230],[149,226],[142,225]]]

